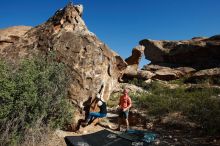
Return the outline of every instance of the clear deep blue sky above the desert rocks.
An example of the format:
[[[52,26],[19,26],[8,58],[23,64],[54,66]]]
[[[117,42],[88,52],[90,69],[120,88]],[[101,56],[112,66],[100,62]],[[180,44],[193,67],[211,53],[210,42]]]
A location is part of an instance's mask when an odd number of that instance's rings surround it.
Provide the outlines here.
[[[1,0],[0,29],[45,22],[68,0]],[[183,40],[220,34],[220,0],[73,0],[83,19],[123,58],[142,39]],[[149,63],[142,59],[141,66]]]

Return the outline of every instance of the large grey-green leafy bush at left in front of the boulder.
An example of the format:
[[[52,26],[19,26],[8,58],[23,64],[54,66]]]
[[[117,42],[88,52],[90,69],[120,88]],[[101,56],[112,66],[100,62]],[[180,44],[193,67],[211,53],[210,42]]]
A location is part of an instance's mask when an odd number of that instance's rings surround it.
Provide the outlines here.
[[[11,66],[0,62],[1,145],[17,145],[32,127],[62,128],[72,120],[63,63],[42,58]]]

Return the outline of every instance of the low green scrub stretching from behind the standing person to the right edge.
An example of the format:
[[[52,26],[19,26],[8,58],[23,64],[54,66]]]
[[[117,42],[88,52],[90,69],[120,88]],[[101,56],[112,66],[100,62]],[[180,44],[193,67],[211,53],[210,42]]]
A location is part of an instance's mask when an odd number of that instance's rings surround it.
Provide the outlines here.
[[[208,133],[220,133],[220,89],[178,87],[170,89],[154,82],[148,93],[132,95],[136,107],[153,116],[181,112]]]

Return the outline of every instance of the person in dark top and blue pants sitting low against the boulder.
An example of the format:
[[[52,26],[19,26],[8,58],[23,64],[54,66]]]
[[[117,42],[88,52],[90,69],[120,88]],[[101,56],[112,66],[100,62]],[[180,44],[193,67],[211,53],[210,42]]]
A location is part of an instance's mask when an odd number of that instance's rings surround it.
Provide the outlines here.
[[[93,121],[96,118],[103,118],[107,115],[107,106],[103,98],[101,98],[100,94],[96,95],[97,99],[97,105],[100,109],[99,112],[89,112],[88,118],[84,123],[82,123],[83,126],[88,125],[90,121]]]

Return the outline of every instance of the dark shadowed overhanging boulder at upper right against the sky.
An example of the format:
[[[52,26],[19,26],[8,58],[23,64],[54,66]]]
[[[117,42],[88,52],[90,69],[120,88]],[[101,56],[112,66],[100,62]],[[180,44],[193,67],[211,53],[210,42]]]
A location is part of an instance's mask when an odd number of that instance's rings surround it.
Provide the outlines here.
[[[168,63],[199,69],[220,65],[219,35],[210,38],[197,37],[185,41],[145,39],[139,44],[145,47],[145,57],[152,64]]]

